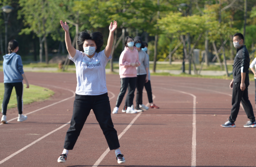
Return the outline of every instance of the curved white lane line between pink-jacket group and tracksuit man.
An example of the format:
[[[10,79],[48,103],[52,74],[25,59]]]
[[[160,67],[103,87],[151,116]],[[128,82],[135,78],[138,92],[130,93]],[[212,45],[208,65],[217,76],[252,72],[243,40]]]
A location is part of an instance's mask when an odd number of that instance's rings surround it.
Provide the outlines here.
[[[197,123],[197,117],[196,117],[196,105],[197,105],[197,96],[195,96],[194,94],[190,94],[184,91],[178,91],[175,89],[168,89],[168,88],[163,88],[163,87],[157,87],[156,88],[159,89],[165,89],[165,90],[169,90],[169,91],[176,91],[176,92],[180,92],[182,94],[188,94],[190,96],[193,97],[193,122],[192,122],[192,152],[191,152],[191,167],[196,167],[197,164],[197,127],[196,127],[196,123]]]

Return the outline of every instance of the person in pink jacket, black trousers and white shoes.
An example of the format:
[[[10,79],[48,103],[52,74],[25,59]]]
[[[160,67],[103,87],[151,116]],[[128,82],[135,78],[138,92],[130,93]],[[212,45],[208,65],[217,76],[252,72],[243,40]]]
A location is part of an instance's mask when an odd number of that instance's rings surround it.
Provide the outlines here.
[[[134,98],[134,91],[136,88],[137,70],[136,67],[140,66],[139,53],[134,47],[133,38],[130,36],[125,37],[125,48],[119,58],[119,75],[121,78],[121,88],[116,99],[116,107],[113,114],[117,114],[119,106],[124,98],[128,88],[128,100],[126,113],[135,114],[131,106]]]

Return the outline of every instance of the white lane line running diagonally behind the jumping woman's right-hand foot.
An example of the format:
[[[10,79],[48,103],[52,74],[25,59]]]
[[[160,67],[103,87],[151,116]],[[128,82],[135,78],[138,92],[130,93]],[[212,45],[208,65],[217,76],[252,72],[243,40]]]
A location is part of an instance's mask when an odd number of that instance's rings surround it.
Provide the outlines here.
[[[117,86],[114,86],[114,85],[108,85],[108,86],[112,86],[112,87],[117,87]],[[120,86],[119,86],[120,87]],[[153,99],[155,99],[155,95],[152,94],[153,96]],[[146,104],[146,106],[148,106],[149,103]],[[142,113],[140,112],[137,116],[135,116],[134,119],[132,119],[132,121],[129,123],[129,125],[123,130],[123,132],[121,134],[118,135],[118,139],[120,139],[124,134],[125,132],[128,131],[128,129],[132,126],[132,124],[136,121],[137,118],[139,118],[139,116],[141,115]],[[109,153],[110,149],[107,148],[105,152],[103,152],[103,154],[101,155],[101,157],[99,157],[99,159],[95,162],[95,164],[93,164],[93,167],[98,167],[98,165],[101,163],[101,161],[106,157],[106,155]]]

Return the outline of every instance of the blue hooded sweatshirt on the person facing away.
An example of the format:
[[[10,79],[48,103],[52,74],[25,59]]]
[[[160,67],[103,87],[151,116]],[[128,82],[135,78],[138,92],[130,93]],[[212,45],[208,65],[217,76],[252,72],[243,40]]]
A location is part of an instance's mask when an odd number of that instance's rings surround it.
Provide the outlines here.
[[[23,65],[21,56],[16,53],[10,53],[3,56],[4,83],[22,82]]]

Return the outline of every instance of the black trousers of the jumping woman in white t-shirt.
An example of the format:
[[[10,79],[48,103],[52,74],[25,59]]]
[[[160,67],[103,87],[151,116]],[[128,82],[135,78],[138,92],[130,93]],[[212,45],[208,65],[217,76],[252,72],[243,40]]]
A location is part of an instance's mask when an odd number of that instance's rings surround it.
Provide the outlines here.
[[[65,137],[64,148],[68,150],[74,148],[91,109],[105,135],[109,149],[118,149],[120,145],[111,119],[111,108],[107,93],[98,96],[75,95],[73,115]]]

